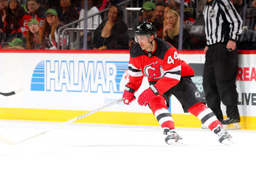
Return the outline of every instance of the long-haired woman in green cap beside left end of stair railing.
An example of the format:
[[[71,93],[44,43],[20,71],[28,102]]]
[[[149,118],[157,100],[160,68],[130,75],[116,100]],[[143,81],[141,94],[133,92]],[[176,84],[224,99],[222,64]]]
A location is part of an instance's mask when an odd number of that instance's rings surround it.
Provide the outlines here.
[[[57,49],[59,43],[57,31],[63,24],[59,21],[57,11],[52,8],[45,12],[45,20],[39,35],[39,44],[45,49]]]

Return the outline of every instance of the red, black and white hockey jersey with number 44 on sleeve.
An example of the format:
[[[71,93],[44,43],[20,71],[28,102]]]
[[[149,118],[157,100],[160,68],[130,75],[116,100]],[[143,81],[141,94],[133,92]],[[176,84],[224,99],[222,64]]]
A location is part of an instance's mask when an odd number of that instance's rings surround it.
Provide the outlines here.
[[[182,61],[177,49],[166,41],[155,38],[156,49],[148,53],[138,43],[130,48],[129,83],[135,91],[139,89],[143,76],[148,81],[157,81],[161,95],[179,83],[181,77],[193,76],[194,70]]]

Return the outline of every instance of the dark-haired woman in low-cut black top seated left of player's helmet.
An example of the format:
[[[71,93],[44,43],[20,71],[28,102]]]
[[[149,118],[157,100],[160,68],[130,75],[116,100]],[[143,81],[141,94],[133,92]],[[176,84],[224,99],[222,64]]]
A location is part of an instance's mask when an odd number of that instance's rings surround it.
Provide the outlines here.
[[[94,32],[93,49],[128,49],[127,30],[122,11],[116,5],[111,6],[108,11],[108,19],[102,21]],[[115,44],[118,46],[114,46]]]

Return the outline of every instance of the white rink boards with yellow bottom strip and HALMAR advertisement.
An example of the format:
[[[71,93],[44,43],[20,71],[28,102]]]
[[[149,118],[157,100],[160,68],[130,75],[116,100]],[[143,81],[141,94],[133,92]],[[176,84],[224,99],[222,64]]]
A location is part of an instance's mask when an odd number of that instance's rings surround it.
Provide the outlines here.
[[[182,60],[193,66],[193,78],[203,94],[202,51],[181,51]],[[256,73],[253,51],[239,54],[237,74],[238,109],[243,129],[256,130]],[[122,98],[127,79],[129,53],[109,51],[1,51],[0,92],[22,89],[16,95],[0,96],[0,119],[67,121]],[[144,79],[139,94],[148,87]],[[175,97],[169,108],[176,126],[199,128],[200,121],[183,109]],[[223,112],[225,107],[222,105]],[[78,122],[158,125],[148,107],[137,101],[119,103]]]

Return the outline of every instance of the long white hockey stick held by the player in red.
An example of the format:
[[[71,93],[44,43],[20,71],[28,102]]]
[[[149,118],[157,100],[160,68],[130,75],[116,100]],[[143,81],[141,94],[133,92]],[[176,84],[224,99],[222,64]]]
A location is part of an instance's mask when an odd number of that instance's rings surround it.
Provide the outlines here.
[[[105,108],[108,108],[108,107],[113,106],[113,105],[115,105],[115,104],[118,104],[118,103],[122,102],[123,100],[124,100],[124,99],[116,100],[116,101],[114,101],[114,102],[112,102],[112,103],[109,103],[109,104],[107,104],[107,105],[105,105],[105,106],[102,106],[102,107],[100,107],[100,108],[97,108],[97,109],[95,109],[94,111],[85,113],[85,114],[83,114],[83,115],[81,115],[81,116],[78,116],[78,117],[75,117],[75,118],[73,118],[73,119],[71,119],[71,120],[69,120],[69,121],[67,121],[67,122],[60,123],[59,125],[54,126],[53,128],[50,128],[50,129],[48,129],[48,130],[46,130],[46,131],[44,131],[44,132],[35,134],[35,135],[33,135],[33,136],[31,136],[31,137],[28,137],[28,138],[26,138],[26,139],[23,139],[23,140],[20,140],[20,141],[11,141],[11,140],[9,140],[9,139],[6,139],[6,138],[3,137],[2,135],[0,135],[0,141],[4,142],[4,143],[6,143],[6,144],[9,144],[9,145],[18,145],[19,143],[22,143],[22,142],[25,142],[25,141],[27,141],[27,140],[29,140],[29,139],[38,137],[39,135],[42,135],[42,134],[44,134],[44,133],[46,133],[46,132],[50,132],[50,131],[53,130],[53,129],[56,129],[56,128],[59,128],[59,127],[64,126],[64,125],[66,125],[66,124],[75,122],[75,121],[77,121],[77,120],[79,120],[79,119],[81,119],[81,118],[84,118],[84,117],[86,117],[86,116],[89,116],[89,115],[91,115],[91,114],[94,114],[94,113],[96,113],[96,112],[98,112],[98,111],[100,111],[100,110],[102,110],[102,109],[105,109]]]

